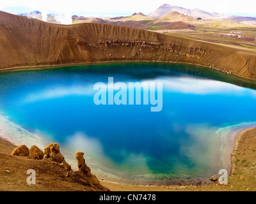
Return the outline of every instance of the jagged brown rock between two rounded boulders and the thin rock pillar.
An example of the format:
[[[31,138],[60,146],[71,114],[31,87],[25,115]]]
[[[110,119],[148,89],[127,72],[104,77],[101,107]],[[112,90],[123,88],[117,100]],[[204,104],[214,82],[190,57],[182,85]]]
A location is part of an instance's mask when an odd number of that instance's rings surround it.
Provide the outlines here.
[[[61,166],[64,166],[65,169],[71,170],[70,164],[65,161],[64,156],[60,153],[60,145],[58,143],[52,142],[51,144],[47,145],[44,149],[44,155],[46,155],[45,157],[49,158],[50,160],[61,164]]]

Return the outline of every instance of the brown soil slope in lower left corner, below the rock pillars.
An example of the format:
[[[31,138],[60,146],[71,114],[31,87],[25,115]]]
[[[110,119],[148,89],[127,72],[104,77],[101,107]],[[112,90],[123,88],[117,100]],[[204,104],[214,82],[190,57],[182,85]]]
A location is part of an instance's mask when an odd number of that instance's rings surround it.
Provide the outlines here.
[[[49,159],[12,156],[15,147],[0,137],[0,191],[109,191],[94,179],[67,171]],[[26,182],[29,169],[36,171],[35,185]]]

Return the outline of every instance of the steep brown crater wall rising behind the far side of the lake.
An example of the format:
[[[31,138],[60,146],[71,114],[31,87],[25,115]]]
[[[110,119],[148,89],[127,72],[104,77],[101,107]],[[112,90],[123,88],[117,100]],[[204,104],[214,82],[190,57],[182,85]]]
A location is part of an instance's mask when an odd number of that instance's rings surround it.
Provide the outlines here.
[[[116,25],[51,24],[3,11],[0,55],[0,69],[100,61],[169,61],[256,79],[254,50]]]

